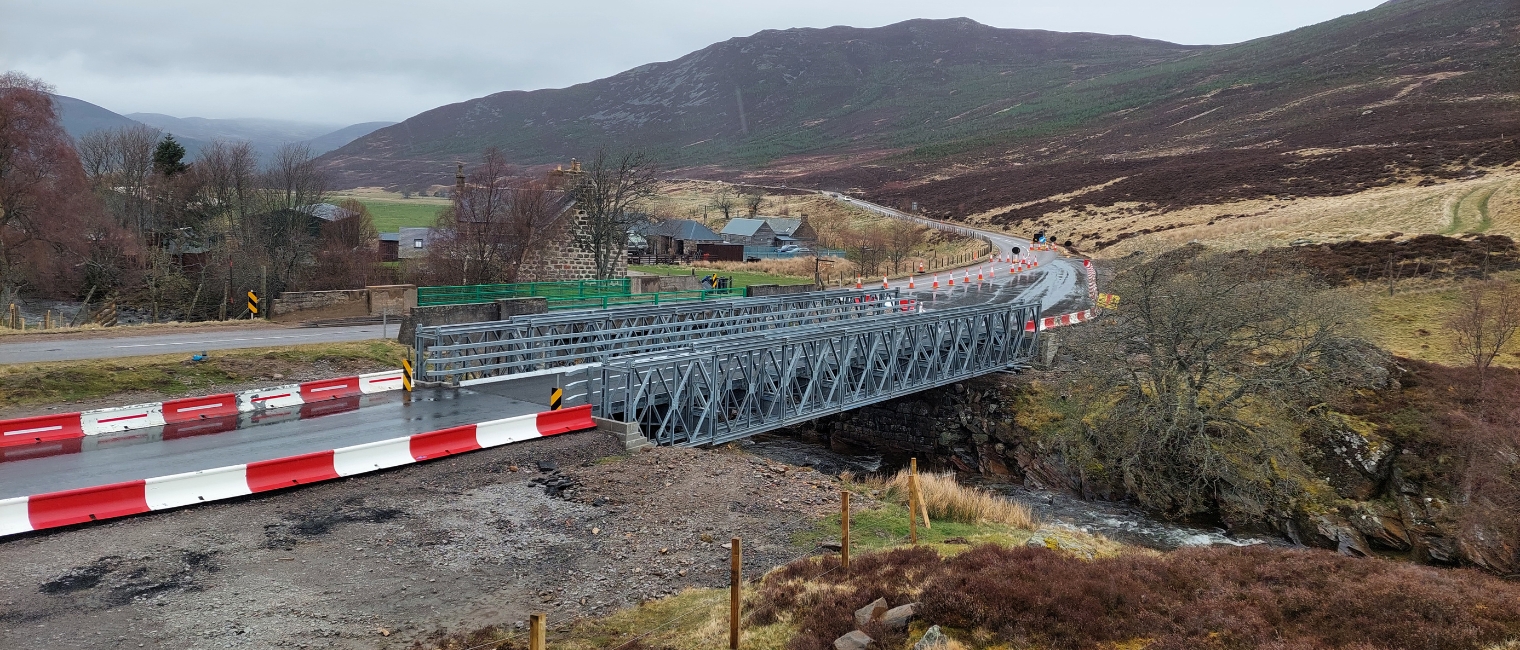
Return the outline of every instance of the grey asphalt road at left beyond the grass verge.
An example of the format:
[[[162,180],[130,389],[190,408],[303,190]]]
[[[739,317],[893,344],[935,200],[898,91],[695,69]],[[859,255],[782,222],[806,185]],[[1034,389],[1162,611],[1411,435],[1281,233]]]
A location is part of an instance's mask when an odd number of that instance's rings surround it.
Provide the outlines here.
[[[0,343],[0,363],[71,361],[79,358],[138,357],[146,354],[195,354],[205,349],[274,348],[281,345],[344,343],[380,339],[380,325],[334,328],[258,328],[248,331],[185,330],[173,334],[112,339],[58,339]],[[395,336],[391,323],[386,334]]]

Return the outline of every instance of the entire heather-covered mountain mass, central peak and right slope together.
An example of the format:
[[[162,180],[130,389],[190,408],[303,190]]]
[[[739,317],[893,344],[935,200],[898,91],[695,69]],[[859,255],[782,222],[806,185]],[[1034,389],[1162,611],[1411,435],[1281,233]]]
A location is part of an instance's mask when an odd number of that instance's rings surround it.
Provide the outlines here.
[[[942,216],[1096,185],[1096,200],[1158,205],[1347,193],[1520,159],[1515,61],[1515,0],[1400,0],[1236,46],[965,18],[766,30],[435,108],[322,161],[340,185],[432,184],[488,146],[521,164],[644,147],[682,175],[859,188]]]

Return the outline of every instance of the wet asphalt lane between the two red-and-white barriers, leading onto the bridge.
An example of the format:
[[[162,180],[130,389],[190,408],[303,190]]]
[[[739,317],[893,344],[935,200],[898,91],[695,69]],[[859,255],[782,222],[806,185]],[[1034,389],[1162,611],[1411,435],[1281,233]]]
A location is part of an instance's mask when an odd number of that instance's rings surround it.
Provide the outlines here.
[[[0,463],[0,498],[225,468],[546,410],[541,404],[468,389],[392,392],[374,398],[378,399],[362,409],[321,418]],[[269,415],[278,418],[278,413]]]

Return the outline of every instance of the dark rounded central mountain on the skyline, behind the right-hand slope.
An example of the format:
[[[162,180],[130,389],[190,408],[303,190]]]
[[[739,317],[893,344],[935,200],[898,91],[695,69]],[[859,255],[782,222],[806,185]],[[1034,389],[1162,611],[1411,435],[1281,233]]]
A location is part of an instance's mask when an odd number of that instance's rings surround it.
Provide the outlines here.
[[[325,159],[340,185],[375,185],[448,182],[445,162],[488,146],[524,164],[564,161],[605,141],[646,147],[669,164],[734,167],[904,150],[983,131],[979,106],[991,121],[1011,121],[1026,97],[1199,50],[965,18],[766,30],[564,90],[441,106]]]

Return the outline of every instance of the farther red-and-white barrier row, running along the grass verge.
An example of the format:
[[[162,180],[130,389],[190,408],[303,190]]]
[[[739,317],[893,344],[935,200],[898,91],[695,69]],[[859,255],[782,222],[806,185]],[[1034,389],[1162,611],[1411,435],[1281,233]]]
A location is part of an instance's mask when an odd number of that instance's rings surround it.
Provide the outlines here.
[[[260,409],[283,409],[289,405],[312,404],[353,395],[371,395],[400,389],[401,371],[386,371],[357,377],[340,377],[336,380],[307,381],[274,389],[245,390],[240,393],[207,395],[202,398],[96,409],[81,413],[6,419],[0,421],[0,446],[30,445],[35,442],[129,431],[134,428],[164,427],[175,422],[237,415],[240,412],[246,413]]]

